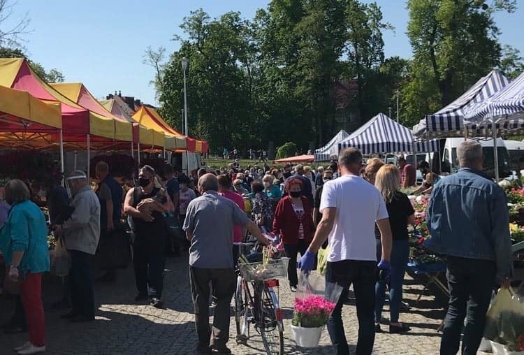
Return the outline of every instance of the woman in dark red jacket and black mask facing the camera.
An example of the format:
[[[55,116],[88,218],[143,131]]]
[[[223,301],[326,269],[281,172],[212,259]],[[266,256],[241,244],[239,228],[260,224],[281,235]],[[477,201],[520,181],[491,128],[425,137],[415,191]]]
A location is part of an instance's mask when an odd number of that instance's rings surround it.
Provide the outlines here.
[[[302,182],[291,179],[286,182],[288,196],[282,198],[275,210],[273,233],[282,237],[284,249],[289,257],[288,280],[292,292],[296,292],[298,276],[296,273],[297,253],[304,255],[314,235],[312,206],[307,197],[301,196]]]

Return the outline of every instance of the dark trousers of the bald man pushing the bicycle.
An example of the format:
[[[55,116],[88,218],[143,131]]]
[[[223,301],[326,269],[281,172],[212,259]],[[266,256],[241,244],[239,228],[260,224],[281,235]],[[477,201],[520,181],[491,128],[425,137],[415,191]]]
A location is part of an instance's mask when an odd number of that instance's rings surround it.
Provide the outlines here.
[[[207,269],[189,267],[191,295],[195,307],[196,335],[198,345],[208,347],[211,340],[209,324],[209,296],[211,282],[213,296],[217,305],[214,307],[213,341],[217,347],[223,347],[229,340],[229,305],[235,292],[235,272],[233,268]]]

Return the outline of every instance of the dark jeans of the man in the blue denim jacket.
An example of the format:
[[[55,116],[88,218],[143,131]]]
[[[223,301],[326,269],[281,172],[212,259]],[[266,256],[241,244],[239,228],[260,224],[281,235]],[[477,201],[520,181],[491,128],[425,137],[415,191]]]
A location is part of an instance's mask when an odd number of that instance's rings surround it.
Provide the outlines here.
[[[460,331],[466,319],[461,354],[474,355],[479,349],[486,325],[496,266],[493,261],[454,256],[448,256],[446,264],[450,296],[440,354],[457,354]]]

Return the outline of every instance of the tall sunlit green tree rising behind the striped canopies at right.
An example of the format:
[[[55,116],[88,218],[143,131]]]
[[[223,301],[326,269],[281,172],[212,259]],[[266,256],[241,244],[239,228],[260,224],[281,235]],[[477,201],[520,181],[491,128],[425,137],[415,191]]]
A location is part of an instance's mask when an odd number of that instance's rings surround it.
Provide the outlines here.
[[[514,11],[516,1],[409,0],[407,8],[413,61],[402,88],[402,119],[413,123],[500,64],[500,31],[493,13]]]

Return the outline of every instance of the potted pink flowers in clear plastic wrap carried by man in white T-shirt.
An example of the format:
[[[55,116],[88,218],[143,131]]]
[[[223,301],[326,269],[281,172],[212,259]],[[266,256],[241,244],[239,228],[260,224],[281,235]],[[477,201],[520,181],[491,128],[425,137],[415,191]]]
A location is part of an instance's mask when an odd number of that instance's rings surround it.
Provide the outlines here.
[[[338,284],[326,282],[318,273],[300,273],[291,329],[300,347],[316,347],[323,327],[342,293]]]

